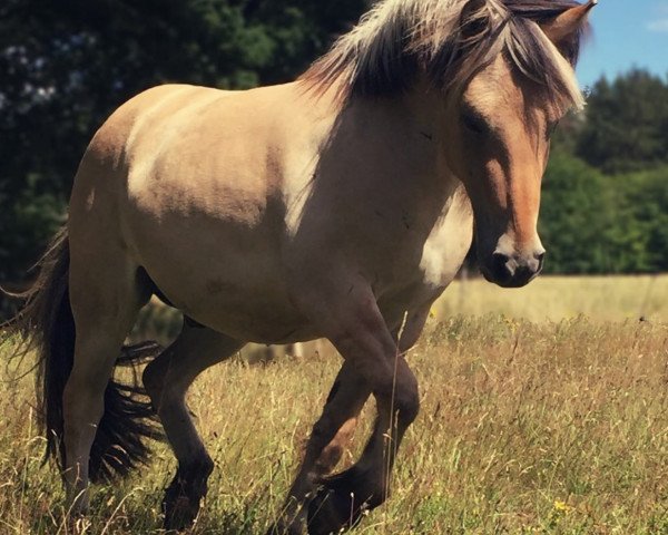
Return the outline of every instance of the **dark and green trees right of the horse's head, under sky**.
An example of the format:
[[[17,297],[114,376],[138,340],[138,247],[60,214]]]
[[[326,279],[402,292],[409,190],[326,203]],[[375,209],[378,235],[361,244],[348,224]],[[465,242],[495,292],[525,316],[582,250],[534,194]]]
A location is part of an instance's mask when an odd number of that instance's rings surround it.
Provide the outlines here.
[[[543,185],[547,271],[668,271],[668,78],[602,78],[563,123]]]

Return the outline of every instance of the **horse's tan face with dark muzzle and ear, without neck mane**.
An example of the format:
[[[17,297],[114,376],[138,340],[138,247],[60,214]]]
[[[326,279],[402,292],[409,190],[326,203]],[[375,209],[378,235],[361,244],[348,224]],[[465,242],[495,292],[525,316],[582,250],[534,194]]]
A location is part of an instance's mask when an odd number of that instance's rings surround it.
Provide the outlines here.
[[[568,47],[593,3],[540,25],[508,28],[531,28],[532,35],[510,35],[515,48],[502,48],[474,72],[452,108],[456,132],[449,138],[459,142],[448,147],[449,159],[473,205],[482,272],[501,286],[523,286],[543,265],[546,250],[537,232],[541,179],[550,135],[578,91],[568,87],[574,84]],[[542,47],[538,60],[531,57],[538,49],[527,49],[532,41]],[[532,74],[541,68],[546,76],[537,79]],[[560,98],[564,94],[570,96]]]

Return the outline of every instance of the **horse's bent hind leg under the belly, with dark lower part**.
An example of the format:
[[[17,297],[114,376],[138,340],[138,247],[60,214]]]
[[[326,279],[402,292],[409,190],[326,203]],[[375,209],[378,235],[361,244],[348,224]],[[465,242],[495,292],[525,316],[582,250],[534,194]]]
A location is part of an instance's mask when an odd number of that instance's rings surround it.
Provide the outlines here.
[[[186,391],[199,373],[243,346],[209,329],[185,324],[176,341],[144,372],[144,385],[178,459],[178,470],[163,502],[167,529],[186,528],[195,522],[214,468],[188,412]]]

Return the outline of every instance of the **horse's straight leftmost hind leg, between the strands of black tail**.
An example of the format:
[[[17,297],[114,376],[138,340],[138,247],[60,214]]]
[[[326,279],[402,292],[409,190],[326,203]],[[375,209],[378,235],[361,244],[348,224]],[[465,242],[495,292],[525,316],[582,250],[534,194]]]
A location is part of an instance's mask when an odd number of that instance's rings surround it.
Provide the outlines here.
[[[105,412],[105,391],[127,333],[148,293],[121,251],[104,259],[71,242],[69,296],[75,356],[62,395],[65,483],[72,514],[88,508],[89,459]]]

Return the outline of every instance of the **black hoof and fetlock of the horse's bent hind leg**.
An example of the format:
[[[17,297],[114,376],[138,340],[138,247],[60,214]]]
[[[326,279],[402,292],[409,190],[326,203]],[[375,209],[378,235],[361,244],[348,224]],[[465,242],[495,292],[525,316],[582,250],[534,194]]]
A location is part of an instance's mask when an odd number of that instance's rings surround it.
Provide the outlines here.
[[[180,532],[193,527],[202,498],[206,496],[206,481],[212,470],[213,467],[208,464],[206,467],[178,469],[163,500],[165,529]]]

